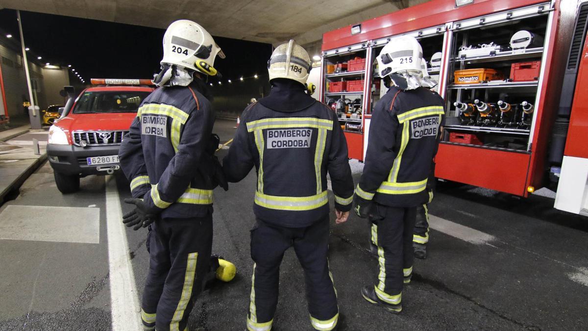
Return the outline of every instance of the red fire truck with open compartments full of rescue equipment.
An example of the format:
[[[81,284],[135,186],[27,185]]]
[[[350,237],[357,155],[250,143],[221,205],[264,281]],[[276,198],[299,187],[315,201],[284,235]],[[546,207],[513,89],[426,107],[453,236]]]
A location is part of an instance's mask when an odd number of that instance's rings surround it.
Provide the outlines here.
[[[446,101],[435,176],[522,197],[559,181],[556,208],[588,214],[587,15],[575,0],[432,0],[336,29],[323,35],[321,101],[363,161],[386,91],[375,57],[412,35]]]

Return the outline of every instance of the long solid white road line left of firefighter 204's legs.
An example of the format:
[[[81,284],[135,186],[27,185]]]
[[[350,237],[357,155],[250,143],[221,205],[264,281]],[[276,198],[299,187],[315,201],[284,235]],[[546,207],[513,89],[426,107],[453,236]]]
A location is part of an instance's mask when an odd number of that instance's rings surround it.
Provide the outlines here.
[[[106,233],[110,269],[112,330],[142,330],[135,275],[116,180],[106,176]]]

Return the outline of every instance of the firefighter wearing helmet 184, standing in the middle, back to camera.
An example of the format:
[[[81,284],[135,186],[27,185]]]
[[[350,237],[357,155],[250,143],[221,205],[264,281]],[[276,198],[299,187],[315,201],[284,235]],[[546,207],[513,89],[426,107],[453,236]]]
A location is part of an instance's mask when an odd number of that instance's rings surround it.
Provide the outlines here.
[[[311,68],[293,40],[279,45],[268,61],[272,91],[243,111],[229,154],[223,160],[229,182],[258,174],[251,230],[253,276],[248,330],[272,328],[278,304],[279,269],[294,247],[305,271],[310,323],[332,330],[339,319],[329,272],[329,173],[336,223],[349,216],[353,179],[343,131],[335,113],[305,92]]]

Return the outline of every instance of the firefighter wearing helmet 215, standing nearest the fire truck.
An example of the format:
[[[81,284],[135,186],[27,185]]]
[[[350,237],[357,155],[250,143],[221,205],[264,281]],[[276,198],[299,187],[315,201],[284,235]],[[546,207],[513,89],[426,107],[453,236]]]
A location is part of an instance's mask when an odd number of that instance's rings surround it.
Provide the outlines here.
[[[402,287],[413,266],[416,207],[429,200],[427,180],[443,125],[443,100],[426,87],[422,48],[413,37],[392,39],[377,57],[390,89],[377,102],[354,208],[371,221],[377,282],[362,289],[368,302],[402,311]]]

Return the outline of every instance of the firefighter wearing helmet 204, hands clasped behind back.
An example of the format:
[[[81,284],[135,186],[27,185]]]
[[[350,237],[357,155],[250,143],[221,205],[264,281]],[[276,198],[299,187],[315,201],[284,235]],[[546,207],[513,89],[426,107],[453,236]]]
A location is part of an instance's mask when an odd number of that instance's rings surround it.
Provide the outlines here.
[[[224,58],[200,25],[173,22],[153,80],[159,88],[139,107],[119,151],[133,196],[125,202],[135,205],[123,222],[152,229],[145,329],[186,330],[211,263],[212,189],[222,182],[222,169],[211,155],[218,140],[211,137],[215,115],[202,78],[216,73],[216,55]]]

